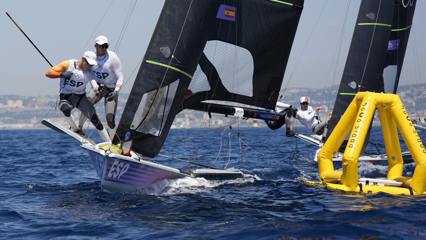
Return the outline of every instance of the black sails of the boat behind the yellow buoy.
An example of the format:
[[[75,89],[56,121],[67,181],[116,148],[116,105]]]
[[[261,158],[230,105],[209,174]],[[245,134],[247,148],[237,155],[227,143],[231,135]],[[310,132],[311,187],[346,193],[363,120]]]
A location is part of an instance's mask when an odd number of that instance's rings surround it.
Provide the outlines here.
[[[357,92],[396,94],[415,4],[415,0],[361,1],[326,139]]]

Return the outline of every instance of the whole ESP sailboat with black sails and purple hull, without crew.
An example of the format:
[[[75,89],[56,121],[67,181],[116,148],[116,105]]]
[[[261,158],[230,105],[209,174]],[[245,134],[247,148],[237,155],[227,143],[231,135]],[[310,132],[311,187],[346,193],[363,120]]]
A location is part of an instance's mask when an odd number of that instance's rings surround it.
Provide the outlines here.
[[[50,120],[43,124],[81,142],[109,191],[163,179],[247,177],[170,156],[162,155],[201,168],[177,169],[145,157],[159,155],[184,109],[279,120],[255,107],[275,108],[302,9],[303,0],[166,0],[112,143],[80,139]]]

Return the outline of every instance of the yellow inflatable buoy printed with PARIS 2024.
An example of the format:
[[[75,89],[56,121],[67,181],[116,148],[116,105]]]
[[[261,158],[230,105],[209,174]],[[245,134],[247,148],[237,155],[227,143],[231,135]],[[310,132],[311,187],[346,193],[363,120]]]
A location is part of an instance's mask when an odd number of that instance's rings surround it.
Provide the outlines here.
[[[358,177],[358,158],[376,108],[379,112],[389,163],[387,180],[363,180]],[[397,127],[400,129],[402,138],[416,163],[412,178],[402,176],[403,158]],[[336,172],[332,158],[348,134],[348,145],[342,160],[343,171]],[[318,167],[321,179],[319,183],[325,184],[331,189],[406,195],[426,193],[426,149],[400,97],[395,94],[357,93],[330,137],[322,146],[318,154]],[[318,182],[308,183],[318,184]]]

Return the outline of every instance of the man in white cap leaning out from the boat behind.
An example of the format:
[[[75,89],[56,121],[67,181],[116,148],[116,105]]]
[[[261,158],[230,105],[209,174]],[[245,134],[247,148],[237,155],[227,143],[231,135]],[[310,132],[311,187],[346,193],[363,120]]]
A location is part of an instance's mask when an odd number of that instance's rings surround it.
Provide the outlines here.
[[[311,106],[308,106],[308,97],[300,98],[300,110],[297,111],[297,118],[300,123],[305,125],[308,129],[311,129],[316,135],[321,135],[327,132],[328,121],[321,122],[321,117],[318,115],[318,111],[322,107],[316,107],[315,110]]]

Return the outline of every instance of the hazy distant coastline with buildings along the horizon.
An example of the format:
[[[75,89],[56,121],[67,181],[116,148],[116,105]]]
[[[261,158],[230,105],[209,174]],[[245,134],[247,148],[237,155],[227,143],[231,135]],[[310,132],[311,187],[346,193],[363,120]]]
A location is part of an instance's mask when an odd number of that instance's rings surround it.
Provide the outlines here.
[[[288,88],[283,94],[283,97],[279,99],[279,102],[284,102],[290,105],[294,105],[299,108],[300,97],[308,97],[310,99],[309,105],[311,106],[322,106],[320,116],[323,119],[327,119],[329,114],[333,110],[334,100],[336,99],[338,86],[335,85],[333,88],[316,89],[316,88]],[[399,96],[404,103],[409,114],[417,114],[423,119],[422,114],[418,114],[418,109],[424,109],[426,106],[422,106],[423,98],[417,97],[416,93],[426,92],[426,88],[420,85],[402,85],[399,88]],[[283,91],[279,93],[279,96]],[[121,116],[126,105],[129,94],[120,94],[118,98],[117,115]],[[0,130],[17,130],[17,129],[48,129],[41,124],[43,118],[48,118],[56,123],[69,126],[63,117],[62,112],[56,109],[55,103],[58,99],[57,95],[47,96],[18,96],[18,95],[0,95]],[[220,102],[219,102],[220,103]],[[102,123],[106,123],[105,111],[103,104],[98,104],[96,111],[101,118]],[[47,114],[49,113],[49,114]],[[78,110],[72,111],[74,117],[78,119]],[[46,115],[47,114],[47,115]],[[58,115],[57,115],[58,114]],[[200,124],[209,124],[211,128],[217,128],[225,126],[228,123],[228,119],[225,117],[212,116],[211,119],[206,119],[205,113],[193,110],[185,110],[184,113],[176,115],[175,121],[173,122],[172,129],[178,129],[185,126],[186,128],[199,127]],[[116,122],[118,119],[116,118]],[[266,124],[262,120],[258,120],[259,127],[266,127]],[[86,121],[86,124],[88,121]],[[247,126],[253,126],[253,119],[249,119],[245,122]]]

